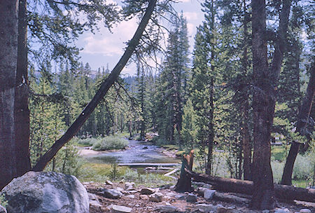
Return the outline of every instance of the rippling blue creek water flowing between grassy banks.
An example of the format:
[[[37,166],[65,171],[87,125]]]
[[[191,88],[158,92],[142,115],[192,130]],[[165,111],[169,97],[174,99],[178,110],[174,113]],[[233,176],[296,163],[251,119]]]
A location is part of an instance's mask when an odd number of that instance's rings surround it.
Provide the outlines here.
[[[165,156],[158,146],[130,140],[128,149],[85,156],[90,163],[179,163],[180,160]]]

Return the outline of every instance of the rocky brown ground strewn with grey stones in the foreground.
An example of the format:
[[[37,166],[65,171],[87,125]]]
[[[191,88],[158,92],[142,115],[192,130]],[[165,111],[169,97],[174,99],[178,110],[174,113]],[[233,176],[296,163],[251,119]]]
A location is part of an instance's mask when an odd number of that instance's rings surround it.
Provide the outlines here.
[[[153,213],[153,212],[229,212],[229,213],[258,213],[261,211],[248,208],[248,200],[224,202],[219,195],[228,195],[214,191],[211,198],[204,198],[205,191],[211,189],[209,184],[194,183],[195,190],[191,193],[177,193],[174,186],[160,186],[146,188],[134,183],[119,183],[111,181],[107,184],[83,183],[90,193],[90,213],[112,212],[113,208],[126,209],[126,212]],[[207,196],[206,196],[207,197]],[[91,199],[92,198],[92,199]],[[115,206],[114,206],[115,205]],[[295,202],[287,204],[278,202],[278,207],[264,212],[314,212],[315,204],[311,202]],[[302,210],[303,209],[303,210]]]

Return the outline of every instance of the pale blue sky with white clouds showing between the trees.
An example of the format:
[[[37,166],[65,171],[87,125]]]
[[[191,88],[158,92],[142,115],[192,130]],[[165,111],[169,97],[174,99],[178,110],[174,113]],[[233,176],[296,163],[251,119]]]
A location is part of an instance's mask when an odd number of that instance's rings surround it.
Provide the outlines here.
[[[178,13],[183,11],[183,15],[187,19],[188,36],[190,41],[190,50],[193,50],[193,38],[196,33],[196,27],[201,24],[204,14],[201,11],[200,1],[198,0],[181,0],[174,4],[174,8]],[[99,32],[85,32],[82,34],[76,46],[83,48],[80,51],[80,57],[83,64],[89,63],[93,70],[99,67],[109,65],[109,69],[113,69],[125,48],[125,42],[129,41],[135,30],[137,29],[137,20],[132,19],[120,24],[109,32],[108,29],[100,27]],[[122,74],[134,75],[134,64],[125,67]]]

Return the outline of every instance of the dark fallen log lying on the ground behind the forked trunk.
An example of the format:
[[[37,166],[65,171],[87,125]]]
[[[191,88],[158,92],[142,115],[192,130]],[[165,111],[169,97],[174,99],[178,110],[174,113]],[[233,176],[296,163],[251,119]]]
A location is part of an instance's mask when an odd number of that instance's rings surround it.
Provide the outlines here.
[[[194,181],[211,184],[218,191],[253,194],[253,181],[243,181],[240,179],[228,179],[224,177],[211,177],[207,174],[197,174],[191,170],[186,172],[191,175]],[[315,202],[315,189],[299,188],[274,184],[276,198],[280,200],[302,200]]]

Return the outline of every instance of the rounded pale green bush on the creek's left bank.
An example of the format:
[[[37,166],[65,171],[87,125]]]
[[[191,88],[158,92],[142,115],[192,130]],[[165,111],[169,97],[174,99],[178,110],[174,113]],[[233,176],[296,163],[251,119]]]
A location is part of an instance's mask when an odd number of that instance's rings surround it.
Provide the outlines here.
[[[96,151],[125,149],[128,143],[129,142],[126,139],[116,136],[108,136],[103,139],[98,139],[97,142],[93,144],[92,149]]]

